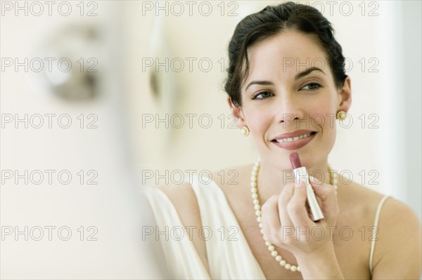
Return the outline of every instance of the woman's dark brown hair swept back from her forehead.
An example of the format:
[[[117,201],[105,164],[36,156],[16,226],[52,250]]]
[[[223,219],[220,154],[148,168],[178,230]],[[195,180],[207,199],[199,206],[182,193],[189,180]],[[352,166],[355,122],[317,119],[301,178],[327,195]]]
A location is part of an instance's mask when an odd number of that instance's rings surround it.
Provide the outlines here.
[[[312,39],[325,50],[335,85],[338,88],[343,86],[347,77],[345,58],[333,36],[331,22],[316,8],[286,2],[248,15],[234,30],[229,43],[229,68],[224,90],[235,106],[242,105],[241,83],[249,71],[248,48],[286,29],[312,35]]]

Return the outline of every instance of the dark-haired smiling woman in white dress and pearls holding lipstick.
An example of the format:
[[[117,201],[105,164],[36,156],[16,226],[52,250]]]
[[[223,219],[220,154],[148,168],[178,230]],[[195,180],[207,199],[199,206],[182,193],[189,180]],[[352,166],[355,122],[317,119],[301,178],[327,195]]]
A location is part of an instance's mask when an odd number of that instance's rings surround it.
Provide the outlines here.
[[[229,107],[260,161],[232,168],[236,185],[196,178],[147,190],[156,229],[170,227],[171,238],[159,239],[172,276],[418,279],[417,215],[328,167],[332,120],[343,119],[352,100],[330,22],[309,6],[268,6],[238,24],[229,60]],[[309,215],[305,183],[291,173],[293,152],[314,175],[321,220]],[[180,228],[188,238],[174,235]]]

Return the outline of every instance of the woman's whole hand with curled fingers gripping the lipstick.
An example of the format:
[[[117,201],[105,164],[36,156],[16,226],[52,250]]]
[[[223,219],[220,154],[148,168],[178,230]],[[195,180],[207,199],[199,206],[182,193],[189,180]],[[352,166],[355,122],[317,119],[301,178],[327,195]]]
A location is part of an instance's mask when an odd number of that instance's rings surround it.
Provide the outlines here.
[[[310,178],[314,192],[321,199],[324,219],[314,222],[306,208],[305,182],[290,183],[279,195],[262,205],[264,239],[300,255],[319,255],[333,248],[333,229],[338,217],[337,195],[332,185]]]

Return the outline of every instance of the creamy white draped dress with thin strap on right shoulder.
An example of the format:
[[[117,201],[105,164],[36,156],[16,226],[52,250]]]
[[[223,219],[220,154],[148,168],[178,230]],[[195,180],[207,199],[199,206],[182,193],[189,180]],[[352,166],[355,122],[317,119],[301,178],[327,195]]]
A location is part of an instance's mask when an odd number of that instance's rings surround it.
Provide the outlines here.
[[[158,238],[170,274],[175,279],[265,279],[222,189],[212,180],[201,183],[197,176],[191,185],[200,208],[203,230],[199,232],[205,240],[210,274],[167,195],[155,187],[145,187],[144,191],[155,215],[157,230],[161,232]],[[375,226],[388,197],[384,196],[378,204]],[[370,267],[374,246],[375,241],[371,244]]]

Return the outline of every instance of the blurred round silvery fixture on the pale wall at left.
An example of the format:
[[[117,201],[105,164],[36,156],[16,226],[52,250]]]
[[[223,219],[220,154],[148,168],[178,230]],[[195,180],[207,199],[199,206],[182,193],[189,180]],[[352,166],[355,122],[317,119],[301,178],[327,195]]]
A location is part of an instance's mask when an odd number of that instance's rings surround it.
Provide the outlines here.
[[[101,30],[94,25],[69,25],[59,29],[43,47],[43,74],[51,92],[69,101],[94,100],[100,95]]]

